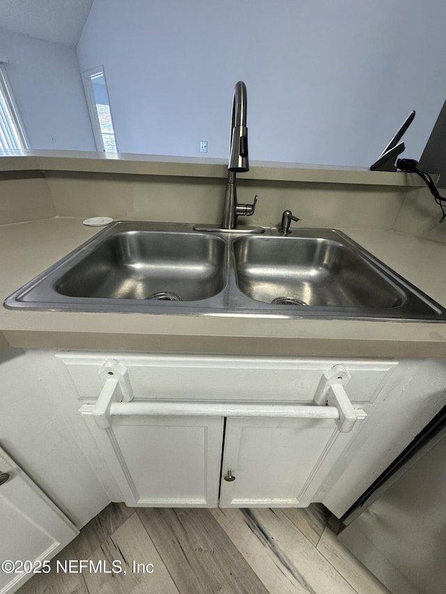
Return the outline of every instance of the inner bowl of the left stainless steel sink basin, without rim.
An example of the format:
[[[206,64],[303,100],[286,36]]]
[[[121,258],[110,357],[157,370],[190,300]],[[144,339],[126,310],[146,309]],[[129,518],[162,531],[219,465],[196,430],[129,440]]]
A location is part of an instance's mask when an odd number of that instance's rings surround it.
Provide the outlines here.
[[[199,301],[224,287],[224,242],[210,235],[121,231],[54,284],[61,295]]]

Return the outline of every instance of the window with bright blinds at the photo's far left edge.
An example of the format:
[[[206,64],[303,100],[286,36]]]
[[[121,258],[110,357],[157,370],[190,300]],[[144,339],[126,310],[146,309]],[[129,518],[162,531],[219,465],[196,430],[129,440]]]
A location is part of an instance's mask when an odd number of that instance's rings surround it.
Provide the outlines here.
[[[13,93],[0,65],[0,148],[29,148]]]

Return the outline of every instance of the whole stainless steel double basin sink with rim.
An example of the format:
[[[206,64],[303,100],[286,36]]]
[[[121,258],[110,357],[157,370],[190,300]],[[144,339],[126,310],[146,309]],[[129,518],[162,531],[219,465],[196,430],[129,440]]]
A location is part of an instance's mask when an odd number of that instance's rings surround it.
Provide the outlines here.
[[[272,318],[446,320],[334,229],[204,233],[116,221],[6,299],[7,308]]]

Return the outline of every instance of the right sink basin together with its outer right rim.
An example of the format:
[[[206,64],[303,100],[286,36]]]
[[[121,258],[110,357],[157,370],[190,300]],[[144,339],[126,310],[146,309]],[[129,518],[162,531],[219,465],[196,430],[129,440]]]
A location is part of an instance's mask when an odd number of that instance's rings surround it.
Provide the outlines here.
[[[358,317],[443,317],[438,304],[344,233],[294,233],[233,242],[237,285],[245,295],[281,308],[321,308],[320,315],[347,308]]]

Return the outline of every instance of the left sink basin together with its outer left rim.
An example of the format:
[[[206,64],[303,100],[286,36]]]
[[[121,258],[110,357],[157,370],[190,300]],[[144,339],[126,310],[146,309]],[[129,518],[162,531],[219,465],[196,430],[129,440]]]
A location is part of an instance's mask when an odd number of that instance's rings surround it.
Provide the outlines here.
[[[5,305],[146,311],[167,302],[192,306],[214,297],[225,284],[226,247],[220,237],[184,226],[117,221],[8,297]]]

